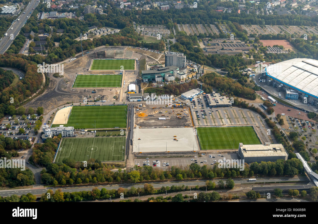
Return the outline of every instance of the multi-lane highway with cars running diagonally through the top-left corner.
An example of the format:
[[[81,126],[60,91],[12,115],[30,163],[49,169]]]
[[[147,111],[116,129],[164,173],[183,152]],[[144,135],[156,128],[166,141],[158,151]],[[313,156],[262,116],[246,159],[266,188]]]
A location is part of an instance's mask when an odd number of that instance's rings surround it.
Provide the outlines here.
[[[8,50],[10,45],[12,44],[13,40],[17,37],[19,34],[21,28],[24,26],[27,19],[31,16],[33,9],[38,6],[39,0],[32,0],[27,7],[24,10],[24,14],[22,13],[18,19],[13,22],[13,24],[9,27],[7,33],[7,36],[3,36],[2,40],[0,41],[0,54],[3,54],[5,51]],[[31,12],[31,14],[30,14]],[[11,30],[11,28],[13,28]]]

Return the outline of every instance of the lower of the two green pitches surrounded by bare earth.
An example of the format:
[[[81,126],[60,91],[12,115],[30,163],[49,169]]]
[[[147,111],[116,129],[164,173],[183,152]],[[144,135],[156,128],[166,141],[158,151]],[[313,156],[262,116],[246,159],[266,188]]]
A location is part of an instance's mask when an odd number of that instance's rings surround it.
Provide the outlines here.
[[[77,75],[72,88],[121,87],[122,75]]]

